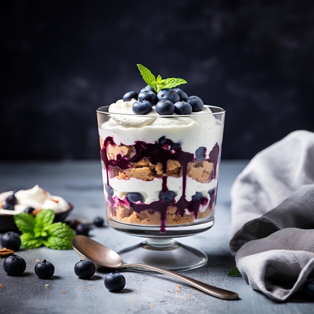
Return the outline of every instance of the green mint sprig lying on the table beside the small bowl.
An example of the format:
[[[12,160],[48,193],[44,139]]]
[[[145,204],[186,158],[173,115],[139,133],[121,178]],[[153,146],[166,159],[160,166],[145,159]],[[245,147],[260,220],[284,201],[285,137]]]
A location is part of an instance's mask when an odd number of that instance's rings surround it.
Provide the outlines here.
[[[45,209],[36,217],[21,213],[14,216],[14,222],[22,232],[21,244],[26,249],[33,249],[45,245],[51,249],[72,249],[71,240],[73,230],[66,224],[53,223],[55,213]]]

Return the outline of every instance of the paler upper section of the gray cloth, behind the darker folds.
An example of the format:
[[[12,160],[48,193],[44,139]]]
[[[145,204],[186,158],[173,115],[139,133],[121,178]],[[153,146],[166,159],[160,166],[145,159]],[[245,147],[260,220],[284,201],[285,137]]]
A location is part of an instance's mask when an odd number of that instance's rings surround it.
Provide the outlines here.
[[[294,131],[259,152],[231,189],[233,236],[246,222],[314,183],[314,133]]]

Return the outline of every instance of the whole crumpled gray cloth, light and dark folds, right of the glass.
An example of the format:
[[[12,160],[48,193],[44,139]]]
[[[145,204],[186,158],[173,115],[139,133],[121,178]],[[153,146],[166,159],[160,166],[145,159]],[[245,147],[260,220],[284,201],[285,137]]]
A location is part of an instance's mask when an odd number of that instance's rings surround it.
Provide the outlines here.
[[[314,133],[252,159],[232,187],[232,222],[230,249],[253,289],[283,301],[314,275]]]

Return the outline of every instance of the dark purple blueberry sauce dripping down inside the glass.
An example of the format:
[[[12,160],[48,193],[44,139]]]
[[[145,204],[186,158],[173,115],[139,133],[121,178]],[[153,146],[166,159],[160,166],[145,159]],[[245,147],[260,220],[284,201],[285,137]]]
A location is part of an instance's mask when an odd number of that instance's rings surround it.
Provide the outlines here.
[[[161,163],[163,166],[163,173],[167,174],[167,162],[169,160],[175,160],[180,162],[183,170],[182,175],[182,196],[181,198],[175,202],[165,202],[163,200],[154,201],[150,204],[144,204],[140,202],[130,202],[130,207],[135,212],[139,213],[142,210],[153,210],[158,211],[161,214],[161,225],[160,225],[160,232],[164,233],[166,231],[166,219],[167,219],[167,211],[169,206],[176,206],[177,212],[176,214],[180,215],[181,217],[184,216],[185,209],[187,209],[190,213],[194,214],[195,219],[197,218],[199,209],[201,205],[206,205],[208,203],[208,199],[202,197],[198,201],[187,201],[186,200],[186,184],[187,184],[187,168],[188,163],[194,160],[194,154],[190,152],[185,152],[181,148],[181,143],[174,143],[172,140],[166,138],[165,136],[161,137],[158,141],[154,143],[146,143],[143,141],[135,141],[134,148],[135,154],[127,159],[120,154],[116,156],[116,160],[108,160],[107,157],[107,145],[111,144],[112,146],[115,145],[115,142],[111,136],[106,137],[104,140],[103,148],[101,149],[101,160],[105,164],[106,168],[106,175],[107,175],[107,185],[109,185],[109,166],[118,167],[121,170],[128,169],[131,167],[130,163],[137,163],[141,161],[143,158],[147,158],[149,162],[153,165]],[[175,145],[176,144],[176,145]],[[216,178],[216,171],[217,171],[217,164],[219,158],[219,145],[218,143],[215,144],[213,149],[209,153],[209,160],[210,162],[214,163],[212,179]],[[162,193],[167,193],[169,191],[167,186],[167,176],[162,178]],[[210,195],[210,202],[209,205],[213,205],[213,200],[215,199],[215,190],[212,190],[213,195]],[[210,192],[212,192],[210,191]],[[115,198],[115,197],[114,197]],[[114,198],[108,193],[108,201],[112,205],[114,202]]]

